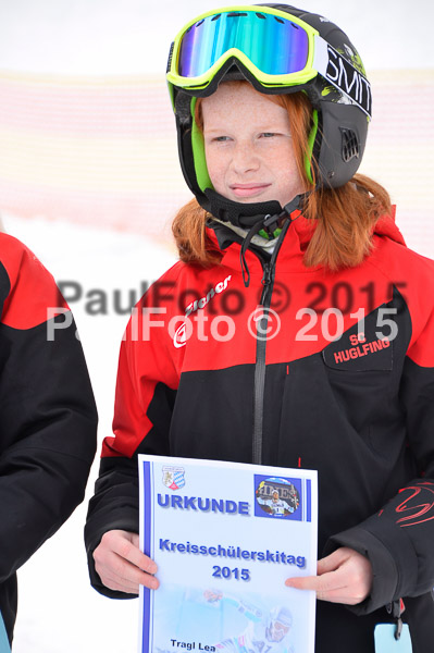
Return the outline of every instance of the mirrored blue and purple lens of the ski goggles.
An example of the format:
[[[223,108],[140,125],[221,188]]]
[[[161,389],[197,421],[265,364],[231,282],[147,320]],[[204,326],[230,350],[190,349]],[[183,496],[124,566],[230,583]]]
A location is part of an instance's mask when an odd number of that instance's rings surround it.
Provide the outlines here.
[[[309,39],[300,25],[281,16],[252,11],[218,13],[184,34],[177,73],[199,77],[231,48],[240,50],[263,73],[285,75],[305,69]]]

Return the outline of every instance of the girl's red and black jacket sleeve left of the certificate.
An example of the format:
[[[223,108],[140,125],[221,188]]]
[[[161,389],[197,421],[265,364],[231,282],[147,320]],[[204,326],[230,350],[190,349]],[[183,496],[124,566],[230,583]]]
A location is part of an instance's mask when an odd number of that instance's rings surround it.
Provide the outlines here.
[[[85,542],[90,582],[115,599],[132,594],[112,591],[95,570],[92,553],[104,532],[139,530],[138,454],[169,455],[169,431],[178,383],[166,329],[157,315],[147,331],[145,296],[127,325],[120,352],[113,433],[103,441],[99,478],[89,502]],[[145,324],[145,325],[144,325]],[[160,324],[160,326],[158,325]]]

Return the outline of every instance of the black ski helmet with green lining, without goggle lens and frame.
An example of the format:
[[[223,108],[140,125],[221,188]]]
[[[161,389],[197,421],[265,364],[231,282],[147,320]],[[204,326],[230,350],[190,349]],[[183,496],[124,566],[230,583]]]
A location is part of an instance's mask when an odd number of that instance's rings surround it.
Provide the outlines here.
[[[188,187],[199,204],[211,213],[219,213],[223,204],[224,211],[231,214],[231,207],[244,207],[245,214],[258,212],[275,212],[278,202],[262,202],[262,205],[238,205],[219,196],[213,189],[208,176],[204,149],[201,135],[195,122],[193,98],[212,95],[218,85],[226,79],[247,79],[262,94],[306,93],[312,104],[312,131],[309,137],[310,151],[305,161],[305,168],[310,177],[312,158],[317,163],[317,186],[339,187],[347,183],[357,172],[364,151],[368,124],[371,118],[372,98],[370,84],[365,77],[362,61],[347,35],[334,23],[322,15],[310,13],[287,4],[256,4],[236,7],[233,11],[253,10],[260,15],[261,8],[271,8],[307,23],[326,44],[327,61],[323,70],[315,71],[314,76],[301,84],[289,86],[263,85],[236,56],[231,57],[214,73],[206,87],[181,87],[168,83],[176,116],[178,134],[178,152],[181,167]],[[210,15],[219,16],[222,11],[215,10]],[[213,20],[211,19],[211,20]],[[202,23],[199,16],[194,26]],[[172,63],[173,44],[169,57],[168,73]],[[268,205],[273,205],[269,207]],[[249,211],[248,207],[253,209]],[[258,209],[258,210],[257,210]],[[263,209],[263,211],[262,211]],[[234,215],[235,221],[236,217]],[[231,219],[231,218],[230,218]]]

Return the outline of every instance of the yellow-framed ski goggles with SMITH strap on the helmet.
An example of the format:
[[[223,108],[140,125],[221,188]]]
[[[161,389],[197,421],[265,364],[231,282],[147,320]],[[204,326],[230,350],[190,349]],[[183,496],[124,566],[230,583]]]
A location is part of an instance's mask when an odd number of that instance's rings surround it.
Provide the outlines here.
[[[320,73],[371,114],[368,79],[317,29],[270,7],[231,7],[188,23],[171,46],[168,82],[203,89],[232,57],[265,88],[306,84]]]

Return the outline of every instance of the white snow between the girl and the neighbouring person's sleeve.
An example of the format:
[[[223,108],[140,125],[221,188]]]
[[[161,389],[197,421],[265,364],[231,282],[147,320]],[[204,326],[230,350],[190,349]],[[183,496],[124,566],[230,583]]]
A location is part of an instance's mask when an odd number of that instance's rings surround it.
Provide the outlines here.
[[[127,322],[116,315],[129,291],[156,280],[175,260],[163,243],[138,235],[69,223],[3,215],[5,231],[23,241],[58,282],[75,281],[82,299],[71,303],[100,415],[99,445],[85,502],[18,571],[14,653],[126,653],[137,650],[138,601],[112,601],[91,589],[83,541],[87,503],[98,475],[102,438],[111,433],[119,346]],[[106,316],[89,315],[86,295],[107,294]],[[95,295],[94,295],[95,296]],[[138,298],[138,296],[137,296]]]

